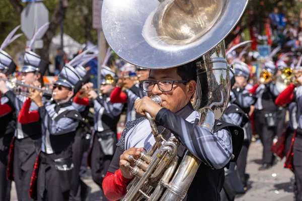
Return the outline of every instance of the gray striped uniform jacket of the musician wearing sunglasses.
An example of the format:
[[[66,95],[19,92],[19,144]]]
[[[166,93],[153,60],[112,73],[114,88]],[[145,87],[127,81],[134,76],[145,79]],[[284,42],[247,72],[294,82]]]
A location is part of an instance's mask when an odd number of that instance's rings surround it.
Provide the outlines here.
[[[47,103],[45,106],[39,108],[42,120],[41,150],[46,154],[62,151],[66,146],[69,146],[73,141],[74,135],[72,134],[74,134],[80,122],[76,118],[80,114],[76,112],[72,113],[75,118],[70,118],[68,115],[57,118],[64,111],[77,111],[71,103],[62,104],[62,107],[56,111],[57,105],[55,103]]]

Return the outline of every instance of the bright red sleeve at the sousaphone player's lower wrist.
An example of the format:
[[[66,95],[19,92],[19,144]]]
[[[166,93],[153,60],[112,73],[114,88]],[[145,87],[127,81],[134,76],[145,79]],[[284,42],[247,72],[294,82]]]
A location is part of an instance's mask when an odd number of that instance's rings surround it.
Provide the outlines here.
[[[122,198],[126,194],[127,185],[131,180],[123,177],[120,169],[116,170],[114,174],[107,172],[102,184],[105,196],[110,201]]]

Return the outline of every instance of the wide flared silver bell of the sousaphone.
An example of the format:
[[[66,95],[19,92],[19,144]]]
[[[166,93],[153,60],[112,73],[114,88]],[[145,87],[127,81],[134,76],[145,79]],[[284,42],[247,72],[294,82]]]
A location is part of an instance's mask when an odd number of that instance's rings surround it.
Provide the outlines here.
[[[248,0],[104,0],[102,27],[127,62],[169,68],[199,58],[235,27]]]

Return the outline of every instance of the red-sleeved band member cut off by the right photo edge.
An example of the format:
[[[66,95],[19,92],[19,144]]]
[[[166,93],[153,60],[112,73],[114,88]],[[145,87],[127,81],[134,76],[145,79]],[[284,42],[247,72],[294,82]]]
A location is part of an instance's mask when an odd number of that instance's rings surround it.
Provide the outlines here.
[[[301,95],[302,76],[301,68],[295,73],[294,83],[289,84],[276,98],[275,104],[286,106],[289,109],[289,122],[286,131],[278,138],[277,143],[272,146],[272,152],[280,158],[286,156],[285,168],[293,171],[295,176],[294,194],[295,200],[302,200],[302,163],[301,163]]]

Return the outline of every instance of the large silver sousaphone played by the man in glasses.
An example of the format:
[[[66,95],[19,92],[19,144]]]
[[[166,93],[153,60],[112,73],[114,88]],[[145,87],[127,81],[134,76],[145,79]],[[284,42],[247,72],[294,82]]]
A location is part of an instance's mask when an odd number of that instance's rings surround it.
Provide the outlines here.
[[[230,97],[223,39],[247,4],[248,0],[104,0],[102,27],[112,50],[133,65],[164,69],[196,62],[198,126],[213,132],[214,119],[222,116]],[[135,166],[129,168],[136,177],[123,200],[182,200],[201,161],[187,151],[176,169],[179,141],[173,136],[165,141],[152,118],[147,119],[157,143],[138,160],[131,158]],[[237,157],[233,154],[232,160]]]

